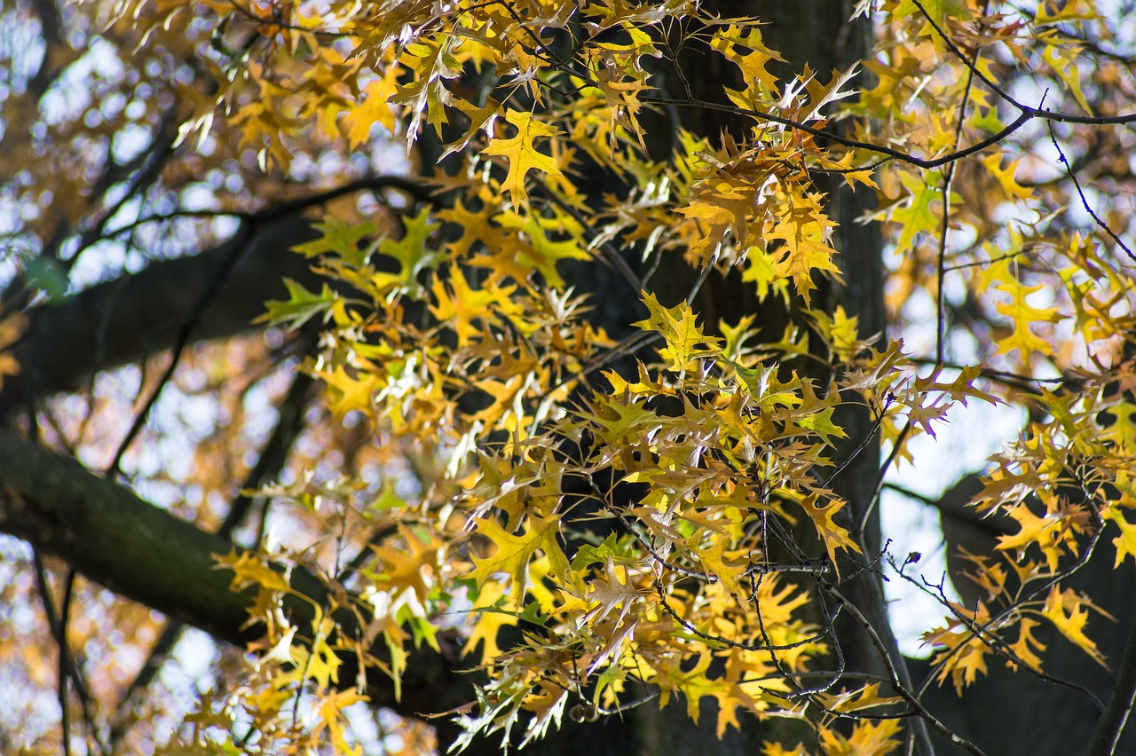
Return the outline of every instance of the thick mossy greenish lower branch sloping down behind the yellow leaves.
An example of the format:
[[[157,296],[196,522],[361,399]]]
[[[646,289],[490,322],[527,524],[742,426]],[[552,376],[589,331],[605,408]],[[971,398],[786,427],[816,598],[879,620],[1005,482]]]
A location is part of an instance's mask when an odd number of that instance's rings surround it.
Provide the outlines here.
[[[229,590],[231,573],[216,566],[214,555],[234,548],[224,538],[92,474],[73,459],[6,431],[0,431],[0,531],[218,640],[243,646],[259,636],[258,628],[245,627],[253,596]],[[290,596],[284,608],[294,624],[310,625],[312,606],[329,604],[328,589],[301,568],[293,568],[290,582],[310,600]],[[358,629],[350,612],[336,619],[348,636]],[[376,648],[374,653],[382,652]],[[462,674],[456,660],[429,649],[411,656],[401,699],[395,698],[389,679],[368,677],[367,692],[375,705],[416,716],[448,711],[471,697],[473,679]],[[344,667],[352,666],[353,658],[345,655]],[[345,684],[353,679],[353,666],[341,670]]]

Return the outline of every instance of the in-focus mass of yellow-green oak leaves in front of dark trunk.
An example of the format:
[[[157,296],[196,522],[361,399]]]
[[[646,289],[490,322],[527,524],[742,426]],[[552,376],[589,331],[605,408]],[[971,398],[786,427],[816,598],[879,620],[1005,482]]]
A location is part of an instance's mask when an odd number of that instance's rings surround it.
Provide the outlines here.
[[[759,19],[685,0],[112,9],[109,28],[140,44],[198,35],[206,74],[178,101],[192,106],[184,143],[235,141],[266,173],[295,171],[311,143],[346,156],[401,142],[441,166],[419,166],[417,192],[376,195],[374,218],[327,205],[296,252],[328,284],[289,282],[264,318],[318,321],[304,370],[335,418],[365,418],[428,472],[412,494],[310,479],[268,492],[349,529],[337,548],[362,560],[219,557],[234,589],[258,591],[250,622],[266,635],[224,706],[206,698],[186,720],[186,746],[232,750],[251,724],[261,740],[240,747],[257,753],[359,753],[342,712],[365,687],[340,677],[342,656],[398,687],[410,650],[437,649],[457,622],[485,671],[458,749],[487,733],[524,745],[566,712],[618,715],[648,690],[694,720],[713,699],[719,736],[747,715],[811,731],[812,751],[766,754],[895,751],[905,720],[943,725],[894,658],[883,681],[840,661],[835,616],[863,620],[847,586],[891,558],[866,538],[872,504],[853,506],[841,476],[882,438],[875,501],[912,439],[976,402],[1030,420],[972,502],[1013,522],[995,554],[968,556],[980,599],[939,589],[945,624],[925,636],[937,679],[963,694],[995,661],[1041,673],[1043,624],[1105,663],[1087,632],[1096,607],[1062,579],[1102,539],[1118,566],[1136,556],[1134,258],[1104,220],[1075,217],[1093,195],[1070,188],[1064,156],[1045,178],[1014,138],[1050,133],[1060,151],[1087,138],[1062,129],[1134,120],[1081,85],[1078,34],[1100,16],[1087,0],[1033,12],[883,0],[857,17],[877,25],[877,50],[815,72],[768,47]],[[735,81],[692,87],[683,48]],[[1025,70],[1066,94],[1016,99],[1002,82]],[[696,134],[674,116],[690,108],[744,127]],[[889,233],[892,334],[830,304],[861,276],[842,268],[829,210],[851,188],[876,193],[862,220]],[[660,267],[691,286],[676,296]],[[671,272],[683,267],[693,275]],[[699,289],[722,276],[797,317],[776,334],[752,314],[711,322]],[[638,314],[604,321],[590,277],[613,279]],[[936,335],[911,344],[917,292]],[[984,326],[955,364],[968,311]],[[854,436],[852,408],[868,418]],[[296,591],[270,563],[328,576],[334,602],[310,627],[279,611]],[[348,633],[343,611],[366,630]],[[296,725],[301,699],[310,726]]]

